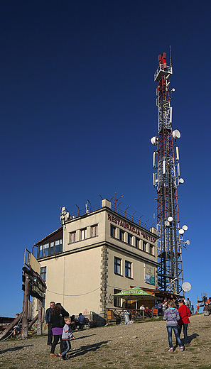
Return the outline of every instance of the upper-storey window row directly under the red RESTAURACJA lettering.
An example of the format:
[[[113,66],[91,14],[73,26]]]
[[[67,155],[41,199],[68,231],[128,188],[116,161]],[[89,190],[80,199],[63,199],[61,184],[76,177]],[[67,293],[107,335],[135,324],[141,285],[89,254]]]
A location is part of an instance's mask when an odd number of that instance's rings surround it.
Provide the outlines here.
[[[117,227],[112,226],[110,228],[110,236],[117,238]],[[142,241],[140,238],[135,237],[131,235],[128,232],[124,232],[121,229],[119,229],[119,240],[128,243],[131,246],[135,246],[136,248],[140,248],[143,251],[146,251],[146,253],[151,253],[153,255],[153,248],[154,246],[151,245],[151,243],[146,243],[145,241]]]

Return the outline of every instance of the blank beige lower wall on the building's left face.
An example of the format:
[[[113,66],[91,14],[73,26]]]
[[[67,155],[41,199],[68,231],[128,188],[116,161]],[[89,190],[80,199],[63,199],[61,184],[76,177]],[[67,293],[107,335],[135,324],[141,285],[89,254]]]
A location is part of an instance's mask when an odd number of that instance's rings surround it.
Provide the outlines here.
[[[45,307],[61,302],[72,314],[99,314],[101,248],[92,248],[40,262],[46,266]]]

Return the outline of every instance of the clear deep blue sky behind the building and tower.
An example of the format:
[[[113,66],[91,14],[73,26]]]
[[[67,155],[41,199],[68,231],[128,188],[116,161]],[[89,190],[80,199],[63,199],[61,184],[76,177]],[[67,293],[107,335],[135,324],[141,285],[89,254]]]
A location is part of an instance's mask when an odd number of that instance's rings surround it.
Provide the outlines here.
[[[1,306],[22,311],[24,248],[60,206],[124,195],[153,219],[158,54],[171,45],[186,294],[210,287],[210,1],[0,2]]]

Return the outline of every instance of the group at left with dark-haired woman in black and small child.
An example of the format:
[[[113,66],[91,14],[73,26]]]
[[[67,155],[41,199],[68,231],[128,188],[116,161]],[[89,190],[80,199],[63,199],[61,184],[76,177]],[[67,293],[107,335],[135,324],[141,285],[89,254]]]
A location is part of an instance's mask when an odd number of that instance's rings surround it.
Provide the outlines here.
[[[50,358],[55,358],[55,346],[60,340],[60,356],[61,360],[66,360],[68,351],[70,351],[71,343],[70,338],[75,339],[72,335],[71,329],[75,329],[75,326],[82,329],[85,321],[85,316],[82,313],[79,314],[78,319],[75,316],[69,316],[69,313],[62,307],[60,302],[50,302],[50,307],[45,313],[45,322],[48,326],[48,342],[51,346]],[[53,342],[52,342],[53,341]]]

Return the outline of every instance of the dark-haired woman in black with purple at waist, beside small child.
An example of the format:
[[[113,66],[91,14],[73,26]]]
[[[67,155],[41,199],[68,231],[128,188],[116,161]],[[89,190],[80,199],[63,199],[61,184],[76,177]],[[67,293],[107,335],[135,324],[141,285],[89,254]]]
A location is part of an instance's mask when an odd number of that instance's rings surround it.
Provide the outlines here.
[[[50,358],[55,358],[56,355],[54,353],[55,346],[57,345],[60,339],[60,352],[62,351],[62,334],[63,334],[63,326],[65,325],[64,317],[69,316],[69,313],[62,307],[60,302],[55,304],[50,316],[50,323],[52,324],[52,333],[53,333],[53,343],[51,345],[50,350]]]

